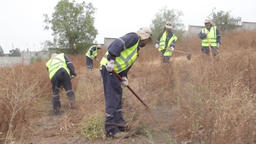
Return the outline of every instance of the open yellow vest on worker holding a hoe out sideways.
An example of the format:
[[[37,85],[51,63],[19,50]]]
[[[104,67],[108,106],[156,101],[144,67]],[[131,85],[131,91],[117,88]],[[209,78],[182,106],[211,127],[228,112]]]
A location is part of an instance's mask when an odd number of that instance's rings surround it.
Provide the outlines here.
[[[164,31],[164,34],[163,34],[163,36],[162,36],[161,39],[160,39],[158,51],[164,50],[166,36],[167,36],[167,35],[166,35],[166,31]],[[169,42],[168,42],[168,45],[167,45],[167,47],[166,47],[167,50],[165,51],[164,56],[171,56],[171,55],[172,55],[172,52],[169,51],[169,50],[170,50],[170,47],[171,47],[170,45],[171,45],[171,43],[172,43],[173,40],[175,40],[175,42],[176,42],[177,39],[178,39],[178,37],[173,34],[173,36],[170,38],[170,40],[169,40]]]

